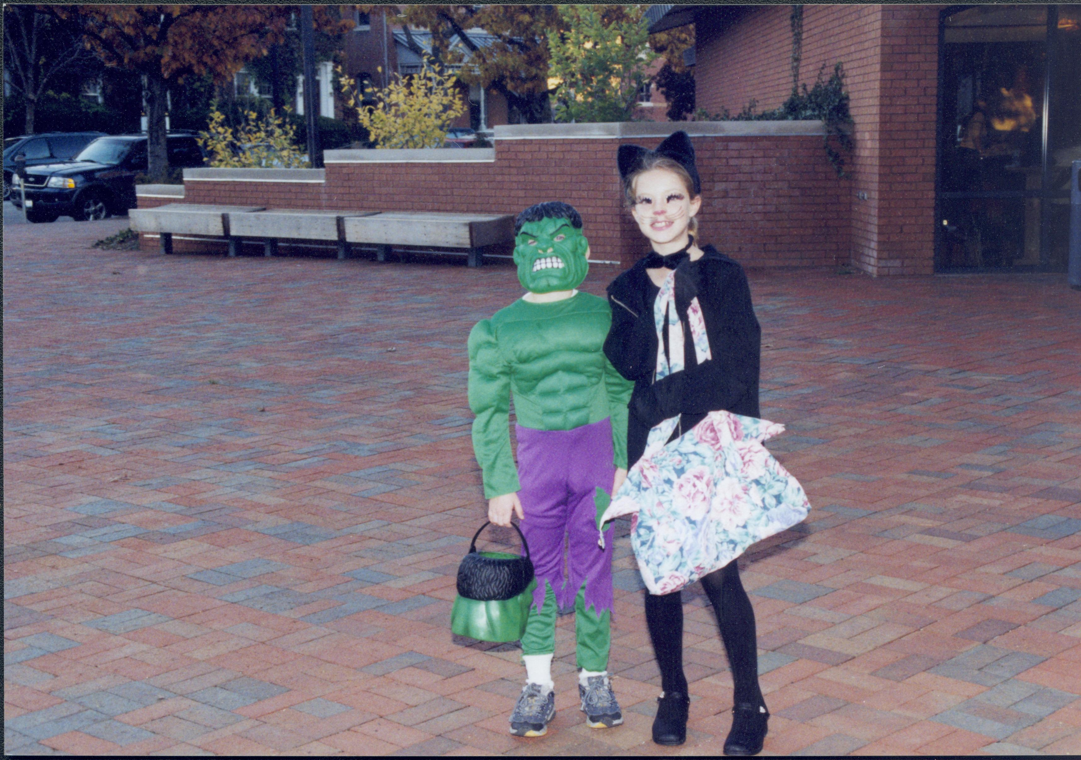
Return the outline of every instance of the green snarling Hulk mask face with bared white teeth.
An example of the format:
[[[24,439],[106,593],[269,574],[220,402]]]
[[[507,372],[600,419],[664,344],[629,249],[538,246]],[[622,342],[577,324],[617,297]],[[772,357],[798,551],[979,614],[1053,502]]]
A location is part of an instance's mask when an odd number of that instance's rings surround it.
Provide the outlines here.
[[[589,274],[589,241],[563,217],[526,222],[515,237],[518,281],[531,293],[569,291]]]

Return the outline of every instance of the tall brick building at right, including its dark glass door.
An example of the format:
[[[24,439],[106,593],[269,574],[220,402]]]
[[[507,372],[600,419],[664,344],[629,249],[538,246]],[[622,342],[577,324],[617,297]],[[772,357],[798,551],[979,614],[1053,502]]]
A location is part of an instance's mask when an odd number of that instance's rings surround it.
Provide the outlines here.
[[[793,53],[800,83],[843,65],[849,239],[864,271],[1065,271],[1081,5],[654,5],[650,17],[652,31],[695,25],[710,114],[779,106]]]

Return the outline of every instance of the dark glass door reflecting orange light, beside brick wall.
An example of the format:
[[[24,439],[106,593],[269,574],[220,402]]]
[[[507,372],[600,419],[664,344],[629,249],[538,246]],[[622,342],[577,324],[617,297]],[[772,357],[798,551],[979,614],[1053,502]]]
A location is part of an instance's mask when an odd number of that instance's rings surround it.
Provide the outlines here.
[[[936,270],[1065,270],[1056,185],[1079,144],[1081,77],[1062,76],[1078,72],[1077,8],[943,14]]]

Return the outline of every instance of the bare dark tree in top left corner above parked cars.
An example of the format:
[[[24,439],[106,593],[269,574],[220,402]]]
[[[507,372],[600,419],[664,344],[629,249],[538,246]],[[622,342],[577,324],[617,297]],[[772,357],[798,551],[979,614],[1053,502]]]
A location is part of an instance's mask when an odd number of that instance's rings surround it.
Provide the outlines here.
[[[86,50],[75,24],[43,5],[5,4],[3,37],[10,83],[26,102],[25,130],[32,134],[38,101],[50,81],[65,68],[89,61],[93,54]]]

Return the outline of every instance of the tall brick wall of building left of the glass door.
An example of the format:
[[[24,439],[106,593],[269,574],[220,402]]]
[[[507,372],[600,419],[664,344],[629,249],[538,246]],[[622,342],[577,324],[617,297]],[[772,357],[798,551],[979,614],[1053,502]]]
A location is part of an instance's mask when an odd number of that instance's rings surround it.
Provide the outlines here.
[[[850,256],[872,275],[931,274],[934,132],[943,5],[804,5],[800,82],[844,65],[855,149]],[[791,92],[789,6],[713,11],[696,26],[697,103],[759,110]]]

